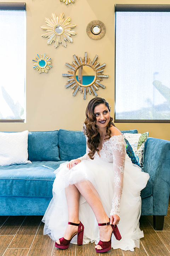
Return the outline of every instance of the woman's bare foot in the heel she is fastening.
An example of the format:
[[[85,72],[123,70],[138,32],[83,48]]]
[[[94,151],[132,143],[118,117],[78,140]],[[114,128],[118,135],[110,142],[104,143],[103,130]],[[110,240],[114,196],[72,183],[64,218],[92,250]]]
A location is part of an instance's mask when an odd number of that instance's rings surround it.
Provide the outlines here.
[[[109,220],[107,221],[109,222]],[[105,225],[105,226],[99,226],[100,231],[100,240],[103,242],[108,242],[111,240],[112,235],[112,226],[111,225]],[[102,250],[103,248],[100,245],[96,245],[95,249]]]

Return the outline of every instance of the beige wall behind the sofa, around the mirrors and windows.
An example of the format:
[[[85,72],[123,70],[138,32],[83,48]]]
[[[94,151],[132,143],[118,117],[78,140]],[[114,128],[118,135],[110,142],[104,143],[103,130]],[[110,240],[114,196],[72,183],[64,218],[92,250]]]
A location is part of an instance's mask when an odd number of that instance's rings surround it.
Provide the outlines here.
[[[1,0],[0,0],[1,1]],[[7,2],[11,2],[7,1]],[[22,2],[19,0],[13,2]],[[100,88],[98,96],[106,98],[112,105],[114,116],[114,4],[169,4],[168,0],[157,1],[116,1],[113,0],[75,0],[74,4],[65,5],[60,0],[27,0],[27,122],[0,123],[1,131],[38,131],[70,129],[80,130],[85,118],[85,109],[92,98],[87,94],[83,99],[80,92],[74,97],[73,90],[66,89],[67,79],[62,73],[69,68],[65,63],[71,63],[73,55],[93,59],[98,55],[100,64],[106,63],[103,74],[109,75],[103,79],[106,89]],[[77,35],[72,36],[73,43],[67,43],[64,48],[60,44],[55,49],[54,43],[47,46],[47,39],[41,37],[45,31],[40,27],[46,25],[45,17],[51,19],[54,12],[57,16],[61,12],[64,17],[71,17],[72,24],[77,24]],[[86,26],[92,20],[101,20],[106,25],[106,35],[98,41],[90,39],[86,34]],[[44,54],[52,58],[52,68],[47,74],[38,74],[33,69],[32,60],[36,54]],[[120,130],[137,129],[138,132],[149,132],[150,137],[170,140],[170,124],[150,123],[119,123]]]

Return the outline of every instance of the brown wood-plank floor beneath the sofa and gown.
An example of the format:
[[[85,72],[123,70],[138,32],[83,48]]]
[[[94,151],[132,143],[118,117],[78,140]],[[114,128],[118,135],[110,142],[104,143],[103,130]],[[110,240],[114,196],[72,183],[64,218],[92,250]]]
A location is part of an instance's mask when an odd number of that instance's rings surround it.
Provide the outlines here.
[[[42,216],[0,216],[0,256],[170,256],[170,203],[163,231],[155,231],[151,216],[142,216],[140,227],[145,237],[140,249],[131,251],[113,250],[97,254],[94,244],[60,250],[49,236],[43,235]]]

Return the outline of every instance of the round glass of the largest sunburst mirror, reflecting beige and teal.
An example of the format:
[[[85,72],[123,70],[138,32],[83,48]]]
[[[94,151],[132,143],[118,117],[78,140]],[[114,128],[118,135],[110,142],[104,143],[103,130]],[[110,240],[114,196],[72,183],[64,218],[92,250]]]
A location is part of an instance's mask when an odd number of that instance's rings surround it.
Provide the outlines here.
[[[75,77],[82,85],[89,85],[95,80],[95,71],[90,66],[80,66]]]

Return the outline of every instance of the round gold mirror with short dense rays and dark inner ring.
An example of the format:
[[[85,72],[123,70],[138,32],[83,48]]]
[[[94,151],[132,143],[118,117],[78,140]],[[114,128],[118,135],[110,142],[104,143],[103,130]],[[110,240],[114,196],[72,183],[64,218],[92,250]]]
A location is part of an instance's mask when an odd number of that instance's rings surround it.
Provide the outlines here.
[[[94,40],[99,40],[106,34],[106,27],[102,21],[93,20],[86,27],[87,35]]]

